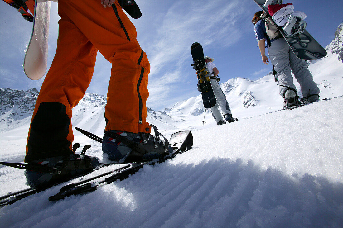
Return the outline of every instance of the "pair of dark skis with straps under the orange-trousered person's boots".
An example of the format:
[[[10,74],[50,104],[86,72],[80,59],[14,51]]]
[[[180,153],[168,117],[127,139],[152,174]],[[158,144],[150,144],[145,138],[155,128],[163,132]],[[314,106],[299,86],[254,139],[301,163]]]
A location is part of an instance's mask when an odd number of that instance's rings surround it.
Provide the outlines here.
[[[98,137],[98,136],[96,136],[90,132],[87,132],[85,130],[82,130],[80,128],[75,128],[75,129],[80,131],[81,133],[83,133],[87,137],[90,137],[91,139],[97,141],[97,142],[101,143],[103,140],[102,138],[100,138],[100,137]],[[49,200],[54,201],[54,200],[58,200],[58,199],[63,199],[64,197],[69,196],[69,195],[75,195],[75,194],[81,194],[81,193],[94,191],[102,185],[111,183],[111,182],[116,181],[116,180],[123,180],[123,179],[127,178],[129,175],[137,172],[145,164],[154,165],[156,163],[162,163],[165,160],[171,159],[171,158],[175,157],[177,154],[183,153],[183,152],[188,151],[192,148],[192,145],[193,145],[192,133],[190,131],[179,131],[179,132],[172,134],[170,137],[170,140],[169,140],[169,145],[171,147],[173,147],[173,153],[165,156],[164,158],[162,158],[160,160],[156,159],[157,161],[153,160],[153,161],[145,161],[145,162],[139,162],[139,163],[128,163],[128,164],[100,163],[94,170],[92,170],[90,172],[93,172],[93,171],[98,170],[102,167],[107,167],[110,165],[122,165],[122,166],[119,168],[117,168],[118,166],[116,166],[116,169],[111,170],[109,172],[102,173],[100,175],[97,175],[95,177],[92,177],[92,178],[89,178],[86,180],[80,180],[80,181],[77,181],[75,183],[65,185],[60,189],[59,193],[57,193],[54,196],[49,197]],[[79,147],[80,147],[80,144],[75,143],[73,145],[74,152]],[[84,146],[84,148],[81,152],[81,155],[85,154],[85,152],[88,148],[90,148],[90,145]],[[23,163],[4,163],[4,162],[1,162],[0,164],[6,165],[6,166],[11,166],[14,168],[34,169],[34,170],[40,170],[40,171],[47,171],[46,169],[49,169],[45,166],[43,166],[43,167],[41,167],[39,165],[37,165],[37,166],[36,165],[31,166],[30,165],[29,166],[29,165],[23,164]],[[90,172],[87,172],[82,176],[73,177],[72,179],[83,177],[83,176],[89,174]],[[100,179],[100,178],[102,178],[102,179]],[[72,179],[69,179],[69,180],[72,180]],[[69,180],[66,180],[66,181],[69,181]],[[97,183],[99,183],[99,184],[94,185],[93,180],[96,180]],[[60,184],[60,183],[56,183],[52,186],[55,186],[57,184]],[[52,186],[50,186],[50,187],[52,187]],[[50,187],[48,187],[48,188],[50,188]],[[21,199],[23,199],[29,195],[33,195],[33,194],[38,193],[40,191],[47,190],[48,188],[45,188],[45,189],[27,188],[27,189],[23,189],[23,190],[16,191],[16,192],[10,192],[7,195],[3,195],[0,197],[0,207],[3,207],[5,205],[9,205],[9,204],[13,204],[16,201],[19,201],[19,200],[21,200]]]

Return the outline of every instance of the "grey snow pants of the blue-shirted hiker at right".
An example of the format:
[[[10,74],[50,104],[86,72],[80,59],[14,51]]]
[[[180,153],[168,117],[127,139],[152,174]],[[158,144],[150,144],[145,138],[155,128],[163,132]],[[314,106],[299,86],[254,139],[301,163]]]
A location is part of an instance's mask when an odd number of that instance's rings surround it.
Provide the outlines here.
[[[275,79],[279,85],[288,86],[297,91],[293,84],[292,69],[295,79],[300,84],[303,97],[320,93],[317,84],[313,81],[312,74],[307,69],[308,64],[305,60],[296,57],[285,39],[274,40],[268,47],[268,53],[274,70],[277,72]],[[282,97],[284,97],[287,89],[287,87],[280,86],[279,93]]]

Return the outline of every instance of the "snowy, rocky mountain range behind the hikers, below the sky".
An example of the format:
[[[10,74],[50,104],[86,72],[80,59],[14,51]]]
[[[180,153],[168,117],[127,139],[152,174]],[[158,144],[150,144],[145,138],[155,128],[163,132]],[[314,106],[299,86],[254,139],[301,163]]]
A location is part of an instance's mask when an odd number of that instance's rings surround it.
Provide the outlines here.
[[[321,99],[343,95],[343,23],[337,28],[335,38],[326,50],[328,51],[326,57],[312,61],[308,67],[321,90]],[[300,86],[296,83],[295,85],[300,91]],[[239,119],[280,110],[282,107],[283,98],[279,95],[277,82],[274,81],[271,73],[256,81],[236,77],[222,83],[221,87],[233,116]],[[27,125],[28,129],[37,97],[38,91],[35,88],[27,91],[1,88],[0,132],[14,129],[19,125]],[[104,95],[85,94],[79,104],[73,108],[73,126],[98,135],[103,134],[105,105]],[[197,97],[179,101],[164,111],[147,108],[147,122],[156,125],[159,130],[174,131],[180,125],[185,125],[185,121],[189,122],[190,126],[200,125],[205,118],[205,110],[199,94]],[[210,113],[210,110],[207,109],[206,112]],[[214,121],[213,118],[208,120],[211,121]]]

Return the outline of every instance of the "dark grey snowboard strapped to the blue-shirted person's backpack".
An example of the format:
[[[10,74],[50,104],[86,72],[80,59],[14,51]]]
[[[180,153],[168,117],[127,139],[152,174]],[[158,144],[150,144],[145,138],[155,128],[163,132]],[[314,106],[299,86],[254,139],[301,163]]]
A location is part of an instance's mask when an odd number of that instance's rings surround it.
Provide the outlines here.
[[[253,0],[259,7],[268,13],[268,8],[264,7],[265,0]],[[274,1],[271,4],[275,4]],[[294,54],[303,60],[315,60],[323,58],[327,55],[326,50],[318,44],[318,42],[309,34],[306,29],[300,34],[288,36],[282,28],[279,29],[283,38],[287,41],[288,45],[292,48]]]

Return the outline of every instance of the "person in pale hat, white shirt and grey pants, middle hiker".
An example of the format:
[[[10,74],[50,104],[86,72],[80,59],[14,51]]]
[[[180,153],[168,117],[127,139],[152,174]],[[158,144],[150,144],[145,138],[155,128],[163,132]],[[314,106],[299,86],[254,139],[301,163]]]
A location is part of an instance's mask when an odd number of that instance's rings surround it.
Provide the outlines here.
[[[205,57],[206,67],[209,71],[212,89],[217,100],[215,106],[211,108],[212,116],[218,125],[225,124],[226,122],[234,122],[235,119],[232,118],[232,113],[229,107],[229,103],[226,100],[226,96],[219,85],[218,69],[213,63],[214,59],[208,56]],[[219,107],[222,112],[219,111]],[[224,116],[224,118],[223,118]]]

